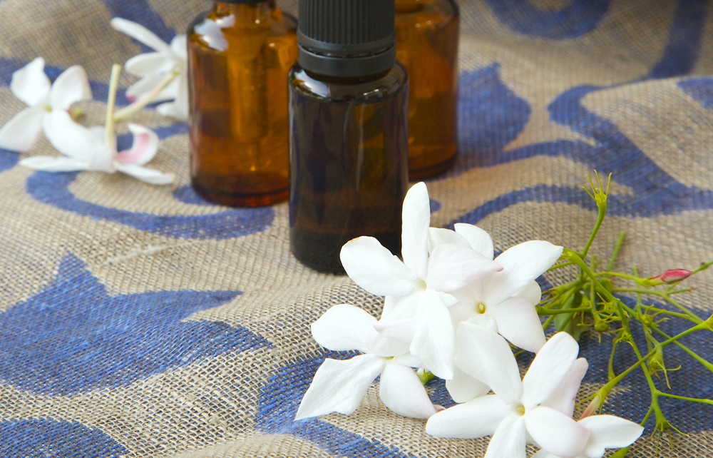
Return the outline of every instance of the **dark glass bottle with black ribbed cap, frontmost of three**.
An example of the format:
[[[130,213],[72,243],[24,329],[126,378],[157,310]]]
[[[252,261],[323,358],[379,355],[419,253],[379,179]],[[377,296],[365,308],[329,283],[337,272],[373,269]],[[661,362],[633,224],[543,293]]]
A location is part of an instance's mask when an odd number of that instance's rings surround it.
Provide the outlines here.
[[[401,250],[408,180],[408,77],[394,0],[300,0],[289,73],[289,241],[305,265],[344,273],[360,235]]]

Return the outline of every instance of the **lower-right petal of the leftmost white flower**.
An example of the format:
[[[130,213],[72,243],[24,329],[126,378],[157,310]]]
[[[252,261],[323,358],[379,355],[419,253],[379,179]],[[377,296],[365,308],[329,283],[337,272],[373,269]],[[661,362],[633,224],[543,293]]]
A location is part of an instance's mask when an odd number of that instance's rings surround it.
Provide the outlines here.
[[[44,116],[42,127],[52,146],[64,156],[89,161],[103,143],[91,131],[72,121],[69,113],[54,110]]]

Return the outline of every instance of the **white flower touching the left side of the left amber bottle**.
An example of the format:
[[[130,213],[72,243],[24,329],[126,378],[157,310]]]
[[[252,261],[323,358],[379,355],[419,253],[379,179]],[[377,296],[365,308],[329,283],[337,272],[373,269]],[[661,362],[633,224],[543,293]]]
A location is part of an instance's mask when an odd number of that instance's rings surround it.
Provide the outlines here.
[[[126,61],[126,71],[141,79],[126,90],[128,98],[140,98],[158,86],[166,75],[178,68],[180,76],[166,86],[155,101],[167,101],[156,107],[163,116],[188,120],[188,49],[185,35],[176,35],[170,45],[152,31],[126,19],[114,18],[111,26],[121,33],[140,41],[156,52],[139,54]]]

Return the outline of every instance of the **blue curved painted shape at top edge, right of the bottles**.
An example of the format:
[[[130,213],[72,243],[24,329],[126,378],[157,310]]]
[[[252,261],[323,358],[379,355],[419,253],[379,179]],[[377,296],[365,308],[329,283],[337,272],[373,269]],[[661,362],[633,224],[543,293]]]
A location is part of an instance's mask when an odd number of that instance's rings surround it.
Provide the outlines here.
[[[571,0],[555,11],[538,9],[528,0],[485,0],[498,19],[519,34],[546,39],[574,39],[596,29],[611,0]]]

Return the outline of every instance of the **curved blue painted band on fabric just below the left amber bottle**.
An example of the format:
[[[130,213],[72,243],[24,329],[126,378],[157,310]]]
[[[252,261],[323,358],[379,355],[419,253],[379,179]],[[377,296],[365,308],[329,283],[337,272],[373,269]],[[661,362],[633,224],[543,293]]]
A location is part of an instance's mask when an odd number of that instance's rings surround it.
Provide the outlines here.
[[[35,200],[60,210],[173,238],[236,238],[266,230],[275,218],[275,210],[270,207],[236,208],[198,216],[153,215],[116,210],[76,198],[69,190],[69,185],[77,175],[36,172],[27,180],[27,192]]]

